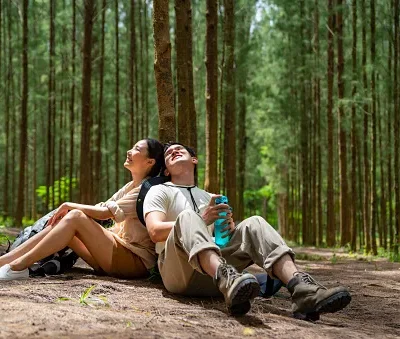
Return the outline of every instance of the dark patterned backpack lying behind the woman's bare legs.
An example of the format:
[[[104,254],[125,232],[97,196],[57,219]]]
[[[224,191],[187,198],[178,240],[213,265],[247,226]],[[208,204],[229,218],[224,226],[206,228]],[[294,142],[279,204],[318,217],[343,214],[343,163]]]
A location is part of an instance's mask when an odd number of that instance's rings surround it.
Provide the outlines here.
[[[41,232],[47,225],[49,219],[54,215],[56,210],[51,211],[44,217],[36,221],[32,226],[24,228],[17,236],[15,241],[6,253],[12,251],[14,248],[20,246],[28,239],[32,238],[35,234]],[[66,247],[57,253],[54,253],[47,258],[39,260],[37,263],[29,267],[30,276],[45,276],[62,274],[66,270],[72,268],[78,260],[78,255],[70,248]]]

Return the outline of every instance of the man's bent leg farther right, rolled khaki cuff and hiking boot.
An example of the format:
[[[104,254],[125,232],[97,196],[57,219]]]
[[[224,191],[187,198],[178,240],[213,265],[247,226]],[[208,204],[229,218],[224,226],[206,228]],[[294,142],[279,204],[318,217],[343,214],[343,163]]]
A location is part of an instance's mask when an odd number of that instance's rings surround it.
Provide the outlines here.
[[[351,300],[346,288],[326,289],[310,275],[298,272],[293,251],[261,217],[241,222],[222,254],[235,267],[243,269],[254,262],[279,278],[292,295],[293,313],[300,318],[318,319],[320,313],[339,311]]]

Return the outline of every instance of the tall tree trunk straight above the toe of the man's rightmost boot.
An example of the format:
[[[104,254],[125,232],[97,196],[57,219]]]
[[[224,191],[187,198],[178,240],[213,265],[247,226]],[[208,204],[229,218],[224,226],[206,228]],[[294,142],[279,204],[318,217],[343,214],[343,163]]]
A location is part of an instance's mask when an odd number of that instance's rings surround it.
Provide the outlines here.
[[[347,184],[347,137],[344,127],[345,112],[342,100],[344,99],[344,54],[343,54],[343,1],[337,0],[337,48],[338,48],[338,127],[339,127],[339,167],[340,167],[340,244],[344,246],[350,242],[348,223],[348,184]]]

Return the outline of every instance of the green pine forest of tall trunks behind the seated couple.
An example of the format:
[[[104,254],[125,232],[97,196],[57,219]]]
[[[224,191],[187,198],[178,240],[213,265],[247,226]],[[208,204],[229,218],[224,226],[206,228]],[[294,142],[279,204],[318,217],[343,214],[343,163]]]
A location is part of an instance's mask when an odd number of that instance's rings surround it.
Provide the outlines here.
[[[1,1],[1,224],[104,201],[154,137],[235,219],[398,260],[399,2]]]

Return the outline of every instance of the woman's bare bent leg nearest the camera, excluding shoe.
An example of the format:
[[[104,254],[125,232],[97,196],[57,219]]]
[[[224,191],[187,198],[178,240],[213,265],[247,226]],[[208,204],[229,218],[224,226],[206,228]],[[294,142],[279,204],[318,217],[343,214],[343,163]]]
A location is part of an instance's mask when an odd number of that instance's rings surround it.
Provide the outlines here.
[[[75,236],[81,243],[74,239]],[[23,270],[69,246],[95,269],[101,267],[110,272],[114,241],[109,231],[83,212],[72,210],[34,248],[10,262],[10,266],[14,271]]]

